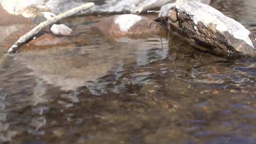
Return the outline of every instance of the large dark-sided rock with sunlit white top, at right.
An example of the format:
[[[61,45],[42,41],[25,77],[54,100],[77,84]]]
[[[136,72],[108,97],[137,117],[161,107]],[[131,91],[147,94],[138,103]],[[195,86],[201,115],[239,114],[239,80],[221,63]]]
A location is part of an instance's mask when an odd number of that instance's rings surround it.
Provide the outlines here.
[[[222,56],[256,55],[256,36],[209,5],[182,0],[168,14],[174,15],[177,20],[169,19],[168,28],[196,48]]]

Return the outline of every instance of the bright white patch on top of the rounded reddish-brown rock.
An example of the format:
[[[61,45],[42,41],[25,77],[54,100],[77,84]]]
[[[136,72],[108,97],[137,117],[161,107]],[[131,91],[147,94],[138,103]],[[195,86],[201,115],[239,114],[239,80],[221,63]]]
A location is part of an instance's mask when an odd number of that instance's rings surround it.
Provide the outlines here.
[[[125,14],[118,16],[115,20],[115,24],[119,25],[121,31],[128,31],[130,27],[141,19],[142,17],[134,14]]]

